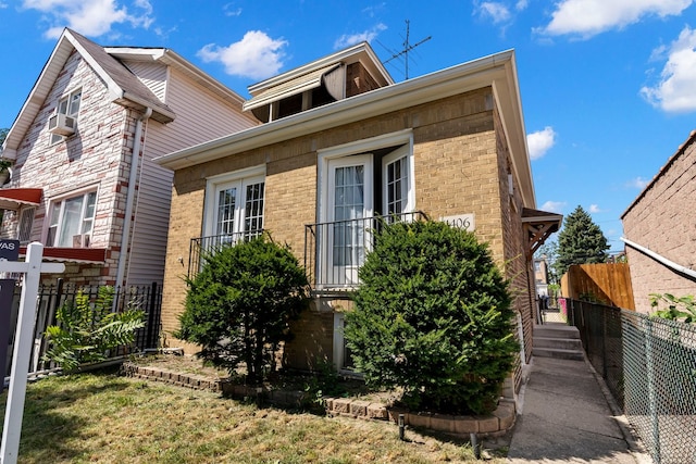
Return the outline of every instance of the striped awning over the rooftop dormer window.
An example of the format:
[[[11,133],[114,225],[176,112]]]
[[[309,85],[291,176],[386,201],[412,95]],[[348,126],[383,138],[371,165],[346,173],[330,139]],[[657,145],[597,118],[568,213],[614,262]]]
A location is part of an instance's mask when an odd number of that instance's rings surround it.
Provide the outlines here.
[[[338,100],[341,97],[340,93],[343,90],[343,83],[338,79],[330,78],[331,74],[338,68],[340,68],[340,63],[334,63],[332,65],[312,71],[311,73],[307,73],[302,76],[298,76],[277,86],[270,87],[253,96],[251,99],[247,100],[241,109],[244,111],[253,111],[260,109],[261,106],[265,106],[283,98],[291,97],[306,90],[311,90],[320,87],[324,80],[327,80],[327,84],[331,83],[331,85],[326,85],[326,90],[328,91],[328,93],[336,100]],[[253,111],[253,114],[259,117],[259,115],[263,116],[265,112]],[[268,122],[268,118],[265,122]]]

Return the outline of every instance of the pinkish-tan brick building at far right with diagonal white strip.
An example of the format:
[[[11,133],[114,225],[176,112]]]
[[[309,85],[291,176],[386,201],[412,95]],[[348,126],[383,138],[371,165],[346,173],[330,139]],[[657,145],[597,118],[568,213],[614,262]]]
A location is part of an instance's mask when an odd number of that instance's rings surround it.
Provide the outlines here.
[[[621,215],[635,309],[650,293],[696,296],[696,130]]]

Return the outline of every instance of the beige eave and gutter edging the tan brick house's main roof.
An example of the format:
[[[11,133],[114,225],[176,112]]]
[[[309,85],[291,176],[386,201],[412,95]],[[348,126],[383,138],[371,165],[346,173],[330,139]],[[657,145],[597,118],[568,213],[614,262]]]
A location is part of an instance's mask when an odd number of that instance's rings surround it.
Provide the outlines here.
[[[513,50],[484,57],[240,130],[160,156],[156,162],[171,170],[181,170],[282,142],[300,134],[324,130],[484,87],[493,87],[494,98],[499,102],[502,126],[510,143],[514,175],[521,186],[524,205],[535,206],[536,199]]]

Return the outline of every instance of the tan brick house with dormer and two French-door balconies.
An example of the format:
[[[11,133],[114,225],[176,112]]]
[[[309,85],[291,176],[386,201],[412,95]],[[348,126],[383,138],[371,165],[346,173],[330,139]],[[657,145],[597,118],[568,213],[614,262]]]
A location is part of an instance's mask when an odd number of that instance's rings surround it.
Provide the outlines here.
[[[343,312],[373,221],[426,215],[489,242],[512,279],[529,360],[532,254],[560,216],[534,210],[512,51],[395,84],[360,43],[249,90],[244,106],[264,124],[156,160],[174,171],[166,333],[178,328],[179,276],[197,272],[199,250],[264,229],[311,277],[313,302],[294,325],[285,362],[307,368],[323,359],[349,371]]]

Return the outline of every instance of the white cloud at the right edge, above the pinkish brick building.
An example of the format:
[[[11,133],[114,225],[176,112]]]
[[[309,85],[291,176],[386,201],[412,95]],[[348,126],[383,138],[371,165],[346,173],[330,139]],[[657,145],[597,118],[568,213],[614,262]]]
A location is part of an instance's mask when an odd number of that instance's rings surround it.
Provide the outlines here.
[[[654,57],[662,53],[663,47],[652,51]],[[684,27],[667,54],[660,81],[654,87],[643,87],[641,95],[654,106],[669,113],[696,111],[696,30]]]

